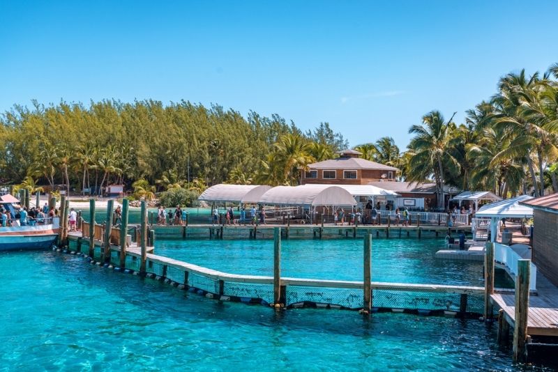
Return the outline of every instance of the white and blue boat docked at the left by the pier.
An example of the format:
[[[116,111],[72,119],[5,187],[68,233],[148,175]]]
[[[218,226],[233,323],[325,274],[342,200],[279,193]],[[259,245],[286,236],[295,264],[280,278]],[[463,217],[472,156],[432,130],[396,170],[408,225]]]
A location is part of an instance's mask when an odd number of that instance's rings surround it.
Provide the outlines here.
[[[0,206],[15,215],[15,201],[11,195],[0,197]],[[19,201],[17,201],[19,202]],[[0,208],[2,209],[2,208]],[[1,221],[1,219],[0,219]],[[20,219],[10,219],[8,226],[0,225],[0,251],[47,249],[52,247],[60,230],[59,217],[45,217],[22,223]]]

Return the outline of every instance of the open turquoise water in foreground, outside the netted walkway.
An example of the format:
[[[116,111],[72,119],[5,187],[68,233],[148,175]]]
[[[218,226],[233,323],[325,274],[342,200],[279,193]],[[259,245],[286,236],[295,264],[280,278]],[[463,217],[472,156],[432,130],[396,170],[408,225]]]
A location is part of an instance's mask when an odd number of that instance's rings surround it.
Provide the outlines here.
[[[478,320],[276,313],[52,251],[0,254],[0,273],[2,371],[522,369]]]

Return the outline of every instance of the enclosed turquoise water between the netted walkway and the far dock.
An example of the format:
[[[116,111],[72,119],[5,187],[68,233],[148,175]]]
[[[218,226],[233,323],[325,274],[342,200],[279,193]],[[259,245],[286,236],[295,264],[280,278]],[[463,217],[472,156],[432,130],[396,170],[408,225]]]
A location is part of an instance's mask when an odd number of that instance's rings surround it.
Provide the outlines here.
[[[435,258],[438,239],[372,240],[372,280],[483,286],[481,263]],[[156,254],[233,274],[273,276],[272,240],[156,239]],[[363,240],[282,240],[285,277],[362,280]]]

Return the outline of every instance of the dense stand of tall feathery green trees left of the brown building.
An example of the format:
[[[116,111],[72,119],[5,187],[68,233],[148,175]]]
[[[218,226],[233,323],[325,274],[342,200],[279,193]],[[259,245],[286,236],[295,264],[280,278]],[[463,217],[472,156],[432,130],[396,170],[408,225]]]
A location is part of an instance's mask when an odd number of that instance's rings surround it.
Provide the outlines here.
[[[229,178],[251,180],[284,134],[319,141],[327,155],[346,144],[327,123],[305,135],[276,115],[250,112],[244,118],[190,102],[33,102],[31,109],[15,106],[0,118],[0,183],[30,176],[49,188],[79,191],[112,183],[130,189],[135,180],[146,180],[140,194],[153,192],[149,185],[202,192]]]

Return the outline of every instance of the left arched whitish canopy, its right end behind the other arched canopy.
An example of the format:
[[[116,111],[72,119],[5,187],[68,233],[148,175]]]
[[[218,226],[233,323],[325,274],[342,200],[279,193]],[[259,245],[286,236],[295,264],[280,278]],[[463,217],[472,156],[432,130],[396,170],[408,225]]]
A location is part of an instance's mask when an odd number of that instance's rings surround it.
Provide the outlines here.
[[[230,203],[241,203],[244,199],[249,199],[249,201],[243,201],[244,203],[255,203],[259,196],[262,196],[267,190],[271,189],[271,186],[266,185],[225,185],[223,183],[219,185],[214,185],[206,189],[197,198],[200,201],[208,202],[230,202]]]

